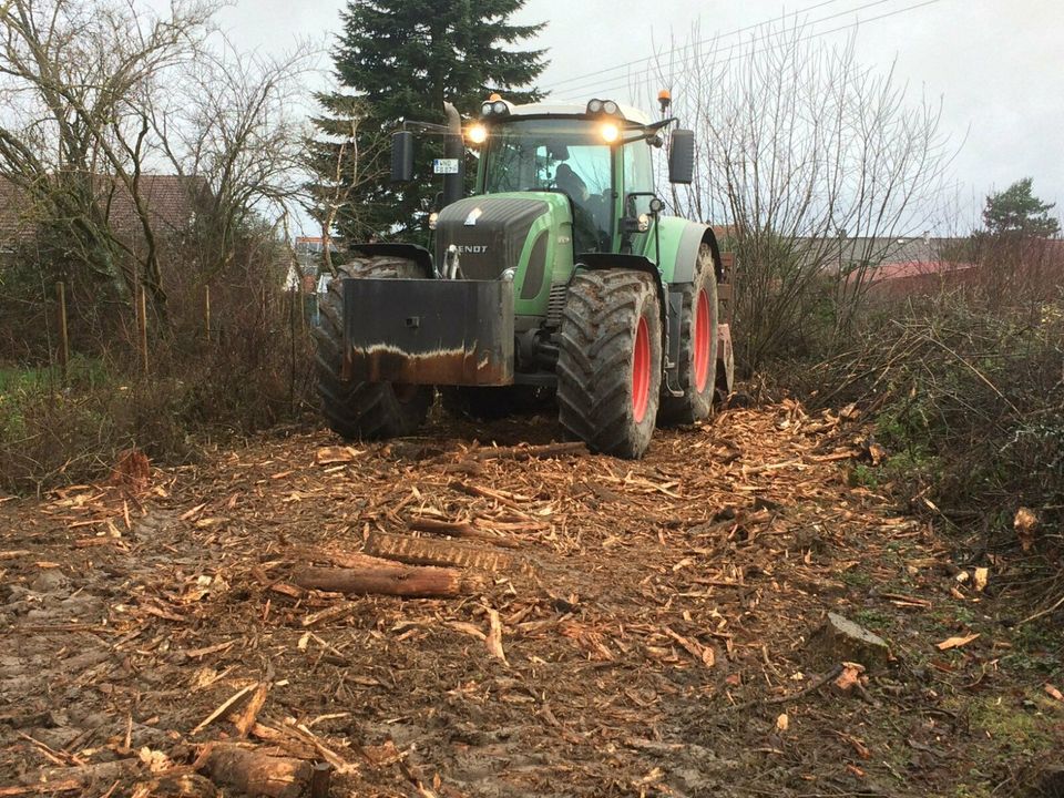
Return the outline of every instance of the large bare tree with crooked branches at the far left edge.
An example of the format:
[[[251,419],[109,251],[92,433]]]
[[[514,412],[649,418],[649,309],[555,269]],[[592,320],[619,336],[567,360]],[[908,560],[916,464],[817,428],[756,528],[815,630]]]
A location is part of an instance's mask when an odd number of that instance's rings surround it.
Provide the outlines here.
[[[0,176],[66,226],[78,259],[132,296],[165,291],[150,208],[141,192],[150,151],[141,100],[158,75],[203,44],[216,4],[175,0],[162,17],[122,2],[9,0],[0,8],[0,76],[11,99],[0,126]],[[131,203],[142,246],[110,223]]]

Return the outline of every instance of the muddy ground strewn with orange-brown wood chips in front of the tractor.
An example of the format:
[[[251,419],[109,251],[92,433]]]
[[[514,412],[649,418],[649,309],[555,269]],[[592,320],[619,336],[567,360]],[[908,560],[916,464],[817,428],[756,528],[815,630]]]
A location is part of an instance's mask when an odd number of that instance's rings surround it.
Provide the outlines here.
[[[484,456],[560,439],[287,430],[0,497],[0,796],[192,795],[167,776],[235,739],[330,763],[331,796],[1064,795],[1060,618],[1021,624],[1004,565],[983,586],[853,487],[860,419],[785,403],[640,462]],[[293,589],[424,519],[509,564],[452,598]],[[828,612],[889,644],[842,686],[810,643]]]

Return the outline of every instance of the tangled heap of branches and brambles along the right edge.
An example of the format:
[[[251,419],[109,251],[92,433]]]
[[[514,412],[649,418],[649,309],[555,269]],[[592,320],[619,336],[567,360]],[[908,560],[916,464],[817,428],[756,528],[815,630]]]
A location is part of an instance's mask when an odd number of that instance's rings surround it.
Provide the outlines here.
[[[1013,518],[1031,508],[1039,533],[1030,560],[1058,569],[1062,361],[1060,300],[988,308],[959,294],[892,304],[869,318],[852,352],[807,368],[802,379],[835,406],[878,408],[874,437],[888,458],[855,466],[851,484],[920,497],[914,508],[978,531],[980,545],[1000,551],[1019,548]]]

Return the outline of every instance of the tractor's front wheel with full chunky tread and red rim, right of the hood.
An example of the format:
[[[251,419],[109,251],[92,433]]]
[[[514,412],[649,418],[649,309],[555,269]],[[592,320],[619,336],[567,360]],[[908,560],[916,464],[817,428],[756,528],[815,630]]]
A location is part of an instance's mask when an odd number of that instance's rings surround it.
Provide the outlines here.
[[[559,420],[592,451],[643,457],[657,417],[662,321],[640,272],[581,272],[562,311]]]

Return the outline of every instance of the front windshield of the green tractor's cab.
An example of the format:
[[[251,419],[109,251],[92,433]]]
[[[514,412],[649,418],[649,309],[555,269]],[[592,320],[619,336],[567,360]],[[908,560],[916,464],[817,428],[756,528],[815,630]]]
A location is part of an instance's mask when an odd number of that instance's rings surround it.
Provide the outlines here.
[[[613,158],[597,126],[572,119],[525,120],[491,129],[484,193],[559,191],[573,201],[577,252],[605,250],[612,236]]]

